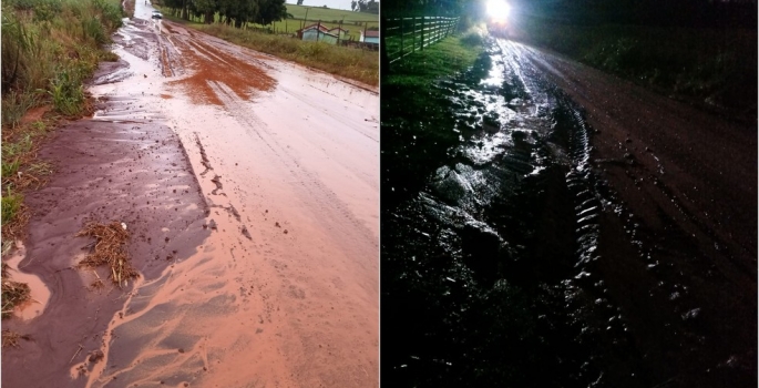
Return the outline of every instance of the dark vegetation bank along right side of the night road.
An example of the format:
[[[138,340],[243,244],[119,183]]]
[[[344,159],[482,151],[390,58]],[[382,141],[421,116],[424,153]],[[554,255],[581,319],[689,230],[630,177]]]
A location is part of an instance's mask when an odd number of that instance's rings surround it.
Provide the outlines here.
[[[523,22],[523,39],[686,101],[757,114],[757,30]]]

